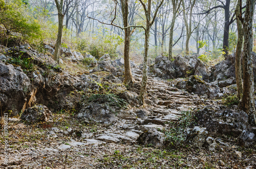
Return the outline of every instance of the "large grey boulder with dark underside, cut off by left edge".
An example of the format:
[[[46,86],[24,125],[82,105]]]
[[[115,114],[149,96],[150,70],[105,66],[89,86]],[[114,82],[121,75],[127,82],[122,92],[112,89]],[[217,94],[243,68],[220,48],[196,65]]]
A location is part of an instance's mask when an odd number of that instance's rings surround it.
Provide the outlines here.
[[[16,116],[30,92],[30,79],[20,67],[0,62],[0,102],[3,113]]]

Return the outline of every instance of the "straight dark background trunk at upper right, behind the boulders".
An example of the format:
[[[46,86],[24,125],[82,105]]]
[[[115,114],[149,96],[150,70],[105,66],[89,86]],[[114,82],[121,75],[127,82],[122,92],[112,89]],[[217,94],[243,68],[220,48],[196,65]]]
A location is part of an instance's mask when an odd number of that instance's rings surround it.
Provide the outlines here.
[[[226,4],[224,6],[224,15],[225,15],[225,23],[224,23],[224,34],[223,34],[223,51],[226,53],[224,55],[228,55],[228,37],[229,37],[229,6],[230,0],[226,0]]]

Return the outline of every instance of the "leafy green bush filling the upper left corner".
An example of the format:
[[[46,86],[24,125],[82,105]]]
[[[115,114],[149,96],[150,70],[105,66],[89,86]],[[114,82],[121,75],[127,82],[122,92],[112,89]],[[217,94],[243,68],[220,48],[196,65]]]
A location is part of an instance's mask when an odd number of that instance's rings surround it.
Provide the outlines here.
[[[26,10],[26,3],[20,0],[7,1],[7,3],[0,0],[0,24],[2,26],[0,36],[2,37],[2,44],[7,45],[9,39],[20,38],[19,41],[22,41],[38,37],[40,25],[26,14]]]

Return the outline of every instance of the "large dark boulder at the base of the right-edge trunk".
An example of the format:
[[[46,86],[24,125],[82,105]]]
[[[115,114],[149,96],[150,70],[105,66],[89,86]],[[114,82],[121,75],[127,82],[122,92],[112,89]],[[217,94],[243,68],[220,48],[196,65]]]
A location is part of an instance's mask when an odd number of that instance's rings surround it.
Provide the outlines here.
[[[199,126],[206,127],[210,135],[239,136],[246,129],[248,115],[243,110],[219,107],[217,110],[203,108],[196,114]]]

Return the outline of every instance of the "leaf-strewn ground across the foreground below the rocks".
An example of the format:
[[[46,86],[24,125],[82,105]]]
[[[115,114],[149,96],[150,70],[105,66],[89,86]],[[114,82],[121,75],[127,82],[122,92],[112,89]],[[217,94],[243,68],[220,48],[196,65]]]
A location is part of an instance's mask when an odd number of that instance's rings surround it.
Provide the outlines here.
[[[4,165],[5,157],[1,155],[1,168],[255,168],[252,164],[256,163],[256,150],[238,146],[231,137],[210,152],[191,147],[105,143],[71,134],[49,136],[53,127],[83,130],[92,137],[111,129],[103,124],[86,124],[66,114],[54,114],[53,122],[44,124],[16,121],[9,125],[8,165]]]

